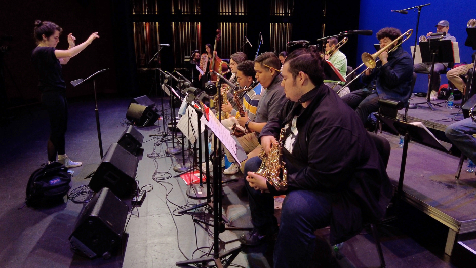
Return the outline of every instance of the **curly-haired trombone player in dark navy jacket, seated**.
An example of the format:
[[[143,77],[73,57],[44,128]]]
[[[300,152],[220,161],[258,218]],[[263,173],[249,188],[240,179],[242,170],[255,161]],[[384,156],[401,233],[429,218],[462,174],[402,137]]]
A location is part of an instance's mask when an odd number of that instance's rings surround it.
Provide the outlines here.
[[[390,44],[401,35],[399,29],[383,28],[377,32],[380,48]],[[367,69],[362,77],[366,88],[353,91],[342,97],[352,109],[357,112],[363,123],[367,117],[378,110],[378,100],[387,98],[402,101],[405,106],[410,99],[411,83],[413,75],[412,57],[399,45],[393,44],[379,55],[380,61],[374,69]],[[393,47],[399,46],[392,52],[387,53]]]

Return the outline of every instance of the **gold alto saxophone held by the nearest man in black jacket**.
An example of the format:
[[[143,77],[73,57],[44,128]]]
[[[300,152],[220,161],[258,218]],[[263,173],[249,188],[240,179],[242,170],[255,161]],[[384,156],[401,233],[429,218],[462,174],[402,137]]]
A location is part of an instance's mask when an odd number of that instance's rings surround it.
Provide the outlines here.
[[[269,154],[266,155],[264,149],[261,148],[258,155],[263,162],[256,173],[265,177],[277,190],[286,190],[288,188],[288,171],[285,168],[286,163],[283,162],[285,132],[286,129],[282,128],[280,139],[277,143],[271,144]]]

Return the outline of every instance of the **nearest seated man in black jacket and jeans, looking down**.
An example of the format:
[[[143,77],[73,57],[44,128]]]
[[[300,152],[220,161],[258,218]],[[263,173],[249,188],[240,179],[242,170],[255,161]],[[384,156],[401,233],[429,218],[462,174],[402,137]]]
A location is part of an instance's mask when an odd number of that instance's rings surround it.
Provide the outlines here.
[[[364,222],[381,219],[392,194],[383,161],[359,117],[323,84],[318,52],[311,47],[295,57],[296,51],[283,68],[288,101],[259,136],[269,152],[281,129],[286,130],[286,192],[254,173],[261,165],[259,157],[245,166],[254,228],[240,242],[258,245],[273,237],[277,231],[273,196],[286,194],[274,267],[309,267],[316,229],[330,225],[331,244],[343,242],[358,234]]]

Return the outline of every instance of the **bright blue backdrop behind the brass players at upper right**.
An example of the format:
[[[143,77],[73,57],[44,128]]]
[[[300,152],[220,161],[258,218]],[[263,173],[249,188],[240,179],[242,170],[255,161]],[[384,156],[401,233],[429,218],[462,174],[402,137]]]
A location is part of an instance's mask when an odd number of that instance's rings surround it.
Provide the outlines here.
[[[358,43],[358,60],[362,63],[360,55],[364,52],[370,54],[375,52],[373,44],[377,44],[378,40],[375,37],[378,30],[384,27],[399,28],[402,33],[409,29],[413,29],[413,34],[410,36],[410,40],[405,42],[402,46],[410,53],[410,46],[415,44],[416,23],[418,18],[418,9],[410,10],[408,14],[400,14],[391,12],[391,10],[400,10],[416,5],[423,5],[431,3],[429,6],[425,6],[421,10],[420,25],[418,27],[417,38],[421,35],[432,31],[436,32],[437,23],[440,20],[447,20],[450,23],[448,33],[456,37],[456,41],[459,43],[460,61],[470,62],[471,54],[473,53],[470,47],[464,46],[466,40],[466,24],[470,19],[476,19],[476,1],[472,0],[453,0],[453,1],[410,1],[401,0],[395,1],[372,1],[361,0],[360,16],[359,16],[359,29],[373,30],[373,36],[360,35]],[[417,43],[418,44],[418,43]],[[442,84],[448,83],[446,75],[441,75]],[[428,90],[428,79],[426,74],[418,74],[417,82],[413,92],[426,92]]]

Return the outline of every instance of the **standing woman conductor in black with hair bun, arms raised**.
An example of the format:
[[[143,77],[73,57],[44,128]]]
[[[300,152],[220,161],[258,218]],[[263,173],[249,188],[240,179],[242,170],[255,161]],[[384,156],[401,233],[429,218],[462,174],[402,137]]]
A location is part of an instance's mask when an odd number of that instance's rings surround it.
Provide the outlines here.
[[[61,72],[61,65],[83,51],[99,38],[97,32],[91,34],[88,40],[79,45],[75,45],[75,37],[68,34],[69,48],[58,50],[59,36],[63,29],[53,22],[35,21],[34,38],[38,45],[31,52],[31,62],[33,63],[38,76],[38,89],[42,93],[42,104],[48,111],[50,118],[50,137],[48,139],[48,161],[56,161],[66,167],[78,167],[83,163],[74,162],[65,153],[65,133],[68,126],[68,102],[66,101],[66,83]]]

